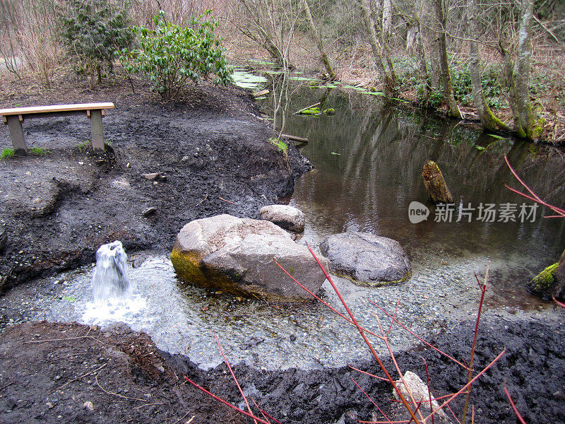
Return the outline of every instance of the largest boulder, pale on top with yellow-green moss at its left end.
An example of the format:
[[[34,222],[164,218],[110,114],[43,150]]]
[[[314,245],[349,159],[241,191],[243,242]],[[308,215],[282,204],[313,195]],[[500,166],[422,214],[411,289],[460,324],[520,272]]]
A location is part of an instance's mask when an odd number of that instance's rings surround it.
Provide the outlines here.
[[[189,283],[265,300],[313,300],[273,258],[319,293],[325,278],[307,247],[266,220],[218,215],[191,221],[177,235],[171,253],[177,275]]]

